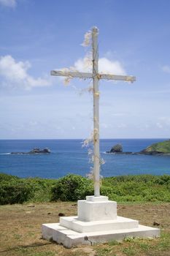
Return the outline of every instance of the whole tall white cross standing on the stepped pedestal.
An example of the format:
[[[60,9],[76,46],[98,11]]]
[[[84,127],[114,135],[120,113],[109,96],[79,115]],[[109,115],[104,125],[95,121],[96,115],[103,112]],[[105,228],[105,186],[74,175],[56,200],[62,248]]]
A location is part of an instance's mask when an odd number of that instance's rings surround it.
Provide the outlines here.
[[[94,195],[100,196],[100,153],[99,153],[99,91],[98,80],[125,80],[134,82],[134,76],[127,75],[105,75],[98,73],[98,29],[92,29],[92,48],[93,48],[93,72],[67,72],[52,70],[51,75],[66,76],[70,78],[93,78],[93,176],[94,176]]]

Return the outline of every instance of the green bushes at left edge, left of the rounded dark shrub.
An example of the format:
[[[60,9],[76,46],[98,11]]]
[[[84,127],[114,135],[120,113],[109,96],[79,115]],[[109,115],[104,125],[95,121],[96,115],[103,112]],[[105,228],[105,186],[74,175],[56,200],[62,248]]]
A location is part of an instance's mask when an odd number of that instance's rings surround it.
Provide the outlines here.
[[[45,178],[18,178],[0,173],[0,205],[24,203],[28,200],[49,201],[54,183],[54,180]]]

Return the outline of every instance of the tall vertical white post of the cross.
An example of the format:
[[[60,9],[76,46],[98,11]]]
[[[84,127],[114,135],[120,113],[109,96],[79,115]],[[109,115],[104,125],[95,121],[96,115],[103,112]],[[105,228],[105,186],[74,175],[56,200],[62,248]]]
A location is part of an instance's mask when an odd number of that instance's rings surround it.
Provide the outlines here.
[[[94,195],[100,196],[99,92],[98,92],[98,29],[92,29],[93,48],[93,147]]]

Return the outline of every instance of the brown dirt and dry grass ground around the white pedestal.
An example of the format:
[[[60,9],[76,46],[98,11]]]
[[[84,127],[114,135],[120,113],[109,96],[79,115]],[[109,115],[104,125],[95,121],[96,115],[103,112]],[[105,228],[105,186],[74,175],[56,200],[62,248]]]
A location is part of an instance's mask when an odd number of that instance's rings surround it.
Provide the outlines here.
[[[142,225],[160,227],[161,233],[170,235],[169,203],[121,203],[117,206],[117,212],[122,217],[139,220]],[[166,246],[165,238],[161,238],[164,239],[164,244],[162,240],[151,241],[148,242],[149,244],[143,243],[145,249],[142,249],[142,243],[136,246],[134,242],[77,246],[73,249],[66,249],[54,242],[45,241],[41,237],[42,223],[58,222],[58,214],[76,215],[77,203],[29,203],[0,206],[0,255],[170,255],[170,246]],[[156,247],[155,254],[152,254],[150,248],[153,248],[154,243],[158,248]],[[164,247],[161,247],[160,243]],[[140,250],[138,250],[139,247]]]

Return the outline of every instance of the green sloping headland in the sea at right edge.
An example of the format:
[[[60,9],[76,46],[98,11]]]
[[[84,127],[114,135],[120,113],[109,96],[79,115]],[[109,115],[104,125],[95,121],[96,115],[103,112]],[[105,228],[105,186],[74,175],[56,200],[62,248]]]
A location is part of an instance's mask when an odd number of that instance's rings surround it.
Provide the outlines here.
[[[154,143],[142,151],[144,154],[170,154],[170,140]]]

